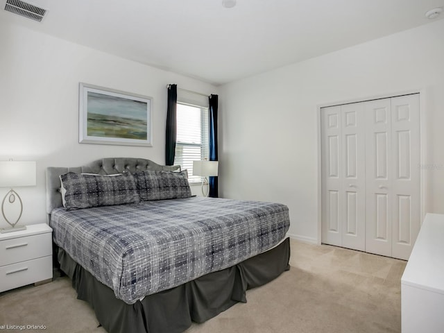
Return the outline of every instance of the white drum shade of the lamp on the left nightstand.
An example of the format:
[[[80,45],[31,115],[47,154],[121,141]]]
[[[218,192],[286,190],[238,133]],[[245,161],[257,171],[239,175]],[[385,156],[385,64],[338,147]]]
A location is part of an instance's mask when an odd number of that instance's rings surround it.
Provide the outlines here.
[[[0,187],[37,184],[35,161],[0,161]]]

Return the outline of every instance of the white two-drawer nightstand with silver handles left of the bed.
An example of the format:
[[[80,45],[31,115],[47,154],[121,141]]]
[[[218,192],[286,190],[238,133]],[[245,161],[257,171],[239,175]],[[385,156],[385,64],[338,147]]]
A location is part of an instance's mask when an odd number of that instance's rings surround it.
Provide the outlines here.
[[[0,234],[0,292],[51,281],[52,231],[40,223]]]

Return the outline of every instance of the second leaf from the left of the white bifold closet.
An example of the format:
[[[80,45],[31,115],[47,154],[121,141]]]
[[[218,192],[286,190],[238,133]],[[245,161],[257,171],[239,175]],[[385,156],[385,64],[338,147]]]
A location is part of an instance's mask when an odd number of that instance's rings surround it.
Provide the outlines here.
[[[364,103],[341,106],[343,172],[342,246],[365,250],[366,131]]]

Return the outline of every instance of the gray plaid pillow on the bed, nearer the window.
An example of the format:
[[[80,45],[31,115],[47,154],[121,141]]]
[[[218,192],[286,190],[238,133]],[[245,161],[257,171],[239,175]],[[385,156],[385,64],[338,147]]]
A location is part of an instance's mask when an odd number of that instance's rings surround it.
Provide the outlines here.
[[[134,173],[140,200],[189,198],[187,171],[143,171]]]

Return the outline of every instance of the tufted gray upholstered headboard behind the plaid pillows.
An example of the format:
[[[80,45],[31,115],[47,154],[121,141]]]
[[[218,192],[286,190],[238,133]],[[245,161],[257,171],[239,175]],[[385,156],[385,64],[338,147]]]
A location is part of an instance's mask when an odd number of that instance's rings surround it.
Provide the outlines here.
[[[180,165],[166,166],[157,164],[143,158],[102,158],[82,167],[48,167],[46,168],[46,212],[51,214],[54,208],[62,207],[62,194],[60,194],[59,176],[67,172],[97,173],[99,175],[112,175],[123,171],[180,171]]]

